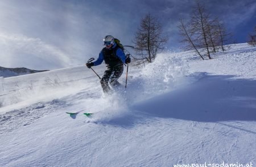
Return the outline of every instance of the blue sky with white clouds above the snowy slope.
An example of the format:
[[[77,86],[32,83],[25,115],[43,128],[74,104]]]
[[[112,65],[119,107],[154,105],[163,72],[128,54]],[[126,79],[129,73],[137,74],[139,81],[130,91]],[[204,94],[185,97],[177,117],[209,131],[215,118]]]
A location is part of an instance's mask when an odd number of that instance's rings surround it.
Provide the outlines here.
[[[236,42],[246,41],[256,24],[254,0],[202,2],[234,33]],[[98,57],[105,35],[132,45],[139,22],[149,12],[170,36],[166,48],[179,50],[177,22],[189,18],[193,5],[189,0],[2,0],[0,66],[51,70],[83,65]]]

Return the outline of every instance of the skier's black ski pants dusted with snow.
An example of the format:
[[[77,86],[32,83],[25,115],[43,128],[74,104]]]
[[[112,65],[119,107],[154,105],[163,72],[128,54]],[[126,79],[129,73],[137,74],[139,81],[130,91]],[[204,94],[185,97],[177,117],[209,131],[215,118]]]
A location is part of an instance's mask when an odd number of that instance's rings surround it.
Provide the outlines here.
[[[123,65],[114,67],[108,66],[107,70],[104,72],[104,75],[101,78],[101,87],[103,92],[106,93],[110,91],[109,84],[112,87],[119,85],[120,83],[117,80],[122,74]]]

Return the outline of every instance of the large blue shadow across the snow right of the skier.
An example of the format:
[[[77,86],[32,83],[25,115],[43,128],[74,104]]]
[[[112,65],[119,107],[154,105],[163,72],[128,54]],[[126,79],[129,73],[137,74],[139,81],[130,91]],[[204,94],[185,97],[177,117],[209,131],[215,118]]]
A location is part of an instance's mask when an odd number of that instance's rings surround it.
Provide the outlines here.
[[[135,104],[152,117],[188,121],[256,121],[256,80],[205,76],[196,83]]]

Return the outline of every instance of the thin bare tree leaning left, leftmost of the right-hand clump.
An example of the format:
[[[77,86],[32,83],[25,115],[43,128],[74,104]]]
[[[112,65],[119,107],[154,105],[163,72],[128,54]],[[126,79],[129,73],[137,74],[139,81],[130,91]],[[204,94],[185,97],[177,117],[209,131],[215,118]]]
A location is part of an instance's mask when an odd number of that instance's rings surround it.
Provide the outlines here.
[[[190,31],[188,25],[184,24],[184,20],[180,19],[178,28],[179,28],[179,35],[181,37],[183,37],[183,39],[180,41],[183,44],[187,44],[185,45],[183,48],[184,50],[195,50],[196,53],[202,58],[204,59],[204,57],[201,55],[201,53],[199,52],[199,49],[197,48],[196,44],[193,42],[193,33]]]

